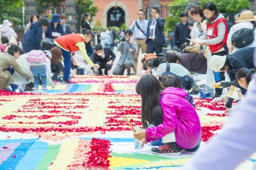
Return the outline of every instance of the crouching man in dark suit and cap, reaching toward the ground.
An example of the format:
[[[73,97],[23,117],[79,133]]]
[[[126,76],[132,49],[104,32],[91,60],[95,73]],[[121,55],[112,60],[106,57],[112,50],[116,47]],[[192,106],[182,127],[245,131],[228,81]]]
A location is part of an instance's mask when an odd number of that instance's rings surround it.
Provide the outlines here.
[[[98,68],[99,75],[102,75],[102,68],[105,68],[104,73],[105,75],[108,75],[108,70],[112,68],[112,63],[115,60],[116,55],[109,47],[102,48],[101,44],[95,45],[94,49],[96,52],[93,54],[92,61],[100,66],[100,68]],[[94,68],[91,68],[90,75],[93,74],[93,69]]]

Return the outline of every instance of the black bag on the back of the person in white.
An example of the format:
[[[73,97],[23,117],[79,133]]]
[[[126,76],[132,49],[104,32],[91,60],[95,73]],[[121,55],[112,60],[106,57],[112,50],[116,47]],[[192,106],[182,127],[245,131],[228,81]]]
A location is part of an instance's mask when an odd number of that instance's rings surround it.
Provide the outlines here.
[[[231,37],[232,45],[238,49],[250,45],[254,41],[254,30],[255,27],[252,27],[252,29],[243,28],[236,31]]]

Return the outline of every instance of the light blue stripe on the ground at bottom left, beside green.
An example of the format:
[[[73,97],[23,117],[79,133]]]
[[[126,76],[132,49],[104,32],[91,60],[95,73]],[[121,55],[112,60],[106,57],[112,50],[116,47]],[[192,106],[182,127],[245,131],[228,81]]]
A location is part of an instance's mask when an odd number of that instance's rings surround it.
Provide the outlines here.
[[[29,147],[26,155],[19,164],[16,166],[15,170],[33,170],[38,166],[41,158],[45,156],[44,152],[47,150],[48,144],[45,142],[35,142],[32,147]],[[47,154],[47,153],[46,153]]]

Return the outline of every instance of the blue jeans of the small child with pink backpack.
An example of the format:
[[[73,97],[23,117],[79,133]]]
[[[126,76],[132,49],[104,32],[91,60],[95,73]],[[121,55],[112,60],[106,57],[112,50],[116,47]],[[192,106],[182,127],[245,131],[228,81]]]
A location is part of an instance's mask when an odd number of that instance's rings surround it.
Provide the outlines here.
[[[43,88],[46,88],[46,66],[40,66],[40,67],[31,67],[30,66],[31,72],[34,74],[34,88],[39,86],[39,79],[41,76],[42,80],[42,86]]]

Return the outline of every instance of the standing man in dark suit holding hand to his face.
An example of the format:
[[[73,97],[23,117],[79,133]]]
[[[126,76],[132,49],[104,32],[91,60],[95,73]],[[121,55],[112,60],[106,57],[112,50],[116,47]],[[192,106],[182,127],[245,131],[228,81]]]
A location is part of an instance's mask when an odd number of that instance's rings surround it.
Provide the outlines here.
[[[164,18],[159,18],[159,8],[153,7],[151,11],[152,19],[148,21],[148,31],[147,31],[147,50],[146,53],[156,54],[162,53],[162,49],[165,43],[164,40]]]

